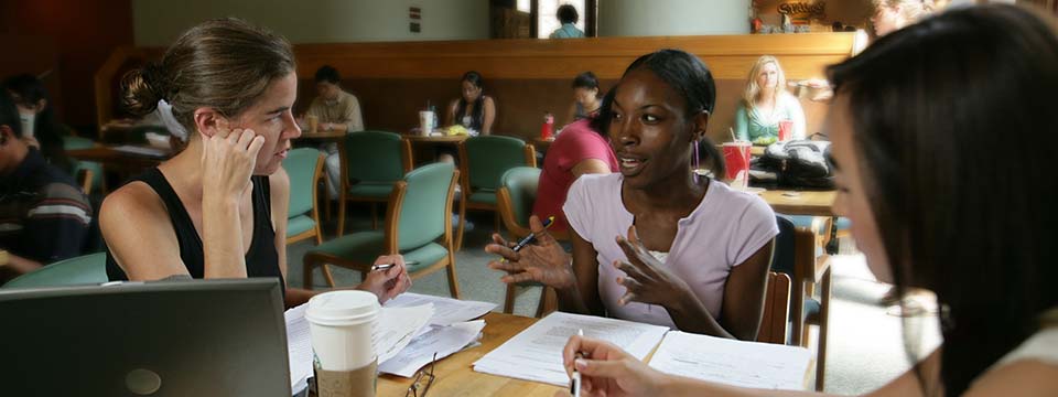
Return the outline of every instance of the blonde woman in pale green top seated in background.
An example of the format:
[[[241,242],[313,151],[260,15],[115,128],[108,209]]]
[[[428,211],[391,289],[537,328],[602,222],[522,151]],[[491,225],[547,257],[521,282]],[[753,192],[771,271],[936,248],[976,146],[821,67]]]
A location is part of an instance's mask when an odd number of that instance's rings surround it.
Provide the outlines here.
[[[792,139],[805,139],[805,111],[797,97],[786,90],[786,75],[779,61],[764,55],[749,69],[749,78],[735,109],[735,137],[768,144],[779,138],[779,124],[792,122]]]

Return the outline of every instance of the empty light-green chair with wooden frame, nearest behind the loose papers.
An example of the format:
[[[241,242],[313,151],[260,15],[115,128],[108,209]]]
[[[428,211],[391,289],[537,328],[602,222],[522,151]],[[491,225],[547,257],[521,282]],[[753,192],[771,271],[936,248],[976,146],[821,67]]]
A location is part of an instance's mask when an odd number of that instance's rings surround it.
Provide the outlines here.
[[[393,184],[381,232],[341,236],[311,249],[304,257],[305,288],[312,287],[313,268],[331,264],[367,276],[380,255],[400,254],[412,279],[446,269],[449,290],[460,298],[452,242],[452,198],[460,173],[450,163],[434,163],[409,172]],[[332,283],[333,286],[333,283]]]

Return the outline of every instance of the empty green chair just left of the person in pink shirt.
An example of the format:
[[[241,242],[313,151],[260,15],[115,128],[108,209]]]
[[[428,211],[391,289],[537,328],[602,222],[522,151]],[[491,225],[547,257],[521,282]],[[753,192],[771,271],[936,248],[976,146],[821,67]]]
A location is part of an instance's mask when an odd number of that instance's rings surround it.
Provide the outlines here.
[[[455,248],[463,247],[466,210],[496,211],[499,178],[515,167],[537,167],[537,151],[521,139],[503,136],[472,137],[460,142],[460,229]],[[499,232],[499,216],[496,230]]]

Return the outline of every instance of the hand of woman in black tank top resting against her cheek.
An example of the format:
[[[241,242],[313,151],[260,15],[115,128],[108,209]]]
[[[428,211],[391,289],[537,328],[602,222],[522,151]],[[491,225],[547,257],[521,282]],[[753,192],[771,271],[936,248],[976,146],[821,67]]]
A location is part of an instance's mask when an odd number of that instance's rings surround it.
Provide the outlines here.
[[[250,185],[264,137],[251,129],[228,128],[227,120],[218,119],[216,132],[203,133],[202,140],[203,200],[240,197]]]

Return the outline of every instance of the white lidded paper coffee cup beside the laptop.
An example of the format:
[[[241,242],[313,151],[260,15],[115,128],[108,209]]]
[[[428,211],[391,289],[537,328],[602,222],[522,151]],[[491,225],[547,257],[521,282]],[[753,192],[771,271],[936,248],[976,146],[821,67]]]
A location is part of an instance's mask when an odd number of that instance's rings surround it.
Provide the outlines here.
[[[354,371],[375,362],[371,333],[381,307],[366,291],[332,291],[309,300],[305,319],[317,365]]]

